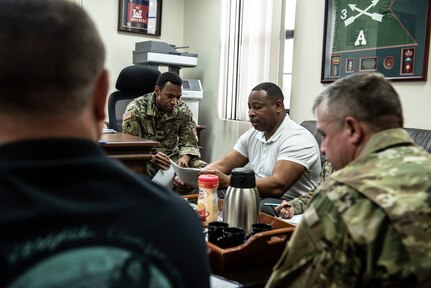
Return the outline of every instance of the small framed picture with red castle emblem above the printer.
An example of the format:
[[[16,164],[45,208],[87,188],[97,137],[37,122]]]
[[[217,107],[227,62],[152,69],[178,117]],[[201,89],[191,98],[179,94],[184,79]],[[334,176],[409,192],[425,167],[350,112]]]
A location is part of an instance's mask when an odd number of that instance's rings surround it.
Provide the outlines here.
[[[118,31],[160,36],[162,0],[119,0]]]

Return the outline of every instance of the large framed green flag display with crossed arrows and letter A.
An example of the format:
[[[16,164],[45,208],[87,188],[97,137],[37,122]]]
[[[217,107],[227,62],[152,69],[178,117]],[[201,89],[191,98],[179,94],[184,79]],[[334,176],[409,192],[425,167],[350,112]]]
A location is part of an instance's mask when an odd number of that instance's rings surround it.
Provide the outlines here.
[[[426,80],[429,0],[326,0],[321,82],[376,71]]]

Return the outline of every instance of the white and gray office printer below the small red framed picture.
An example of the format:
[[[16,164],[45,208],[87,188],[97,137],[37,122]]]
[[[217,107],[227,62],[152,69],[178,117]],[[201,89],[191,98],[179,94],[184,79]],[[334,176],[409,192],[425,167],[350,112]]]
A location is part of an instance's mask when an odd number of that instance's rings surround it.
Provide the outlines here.
[[[156,66],[156,68],[168,66],[169,71],[177,74],[181,68],[195,67],[198,64],[198,55],[178,52],[179,48],[160,41],[137,42],[133,51],[133,64]]]

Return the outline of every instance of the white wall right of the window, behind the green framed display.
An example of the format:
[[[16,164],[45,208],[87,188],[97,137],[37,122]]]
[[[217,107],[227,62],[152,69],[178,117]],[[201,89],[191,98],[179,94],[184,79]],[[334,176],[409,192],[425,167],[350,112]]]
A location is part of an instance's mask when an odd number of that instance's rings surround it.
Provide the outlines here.
[[[314,119],[314,98],[325,88],[320,84],[325,1],[298,0],[290,113],[297,122]],[[431,65],[428,75],[431,79]],[[394,82],[404,109],[405,127],[431,129],[431,80]]]

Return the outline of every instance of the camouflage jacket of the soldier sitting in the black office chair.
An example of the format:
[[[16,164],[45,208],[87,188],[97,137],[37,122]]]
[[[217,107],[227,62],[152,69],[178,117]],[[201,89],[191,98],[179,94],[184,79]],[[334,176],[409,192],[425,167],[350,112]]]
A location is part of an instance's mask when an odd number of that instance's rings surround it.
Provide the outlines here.
[[[192,112],[182,101],[173,111],[165,113],[157,109],[153,93],[134,99],[127,105],[123,116],[123,133],[160,142],[155,151],[165,153],[174,161],[186,154],[200,158],[196,123]],[[151,174],[155,173],[148,174],[153,176]]]

